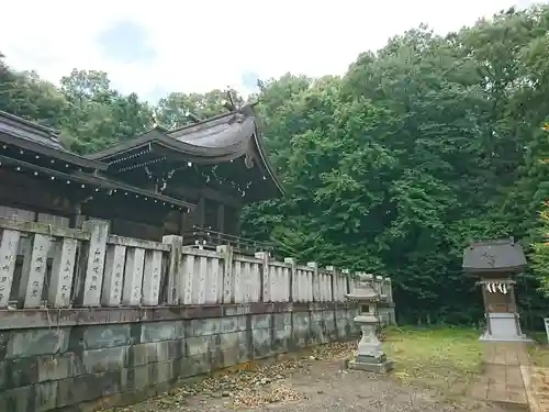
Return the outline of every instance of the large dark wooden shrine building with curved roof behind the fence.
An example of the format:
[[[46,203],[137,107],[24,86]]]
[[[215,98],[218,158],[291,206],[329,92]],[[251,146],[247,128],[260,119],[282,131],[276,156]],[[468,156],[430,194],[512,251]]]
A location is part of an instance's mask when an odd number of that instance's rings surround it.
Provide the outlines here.
[[[186,244],[238,237],[243,205],[282,194],[251,105],[167,130],[155,126],[100,153],[66,151],[55,131],[0,112],[0,218]]]

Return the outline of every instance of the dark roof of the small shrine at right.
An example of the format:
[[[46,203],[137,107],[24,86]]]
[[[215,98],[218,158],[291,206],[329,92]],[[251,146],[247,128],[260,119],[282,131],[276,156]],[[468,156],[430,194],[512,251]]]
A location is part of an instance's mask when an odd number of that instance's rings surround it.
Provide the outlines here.
[[[513,238],[472,243],[463,250],[463,270],[517,271],[526,267],[523,246]]]

